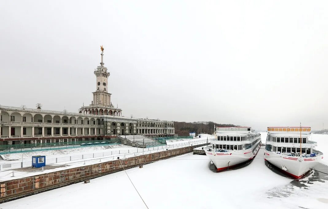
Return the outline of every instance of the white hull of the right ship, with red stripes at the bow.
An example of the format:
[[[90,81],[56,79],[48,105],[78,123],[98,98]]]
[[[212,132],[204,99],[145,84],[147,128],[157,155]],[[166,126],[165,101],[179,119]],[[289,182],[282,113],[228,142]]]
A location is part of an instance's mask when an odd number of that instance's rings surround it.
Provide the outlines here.
[[[277,154],[265,150],[264,160],[275,165],[282,172],[289,174],[295,179],[300,179],[302,176],[316,166],[322,158],[322,155],[311,158],[299,158]]]

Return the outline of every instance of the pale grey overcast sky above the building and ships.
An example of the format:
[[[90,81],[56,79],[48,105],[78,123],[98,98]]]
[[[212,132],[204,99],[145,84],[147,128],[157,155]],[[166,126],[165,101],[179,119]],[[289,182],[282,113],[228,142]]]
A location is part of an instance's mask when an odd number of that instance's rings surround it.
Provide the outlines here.
[[[0,104],[91,104],[100,45],[124,116],[328,127],[327,1],[0,1]]]

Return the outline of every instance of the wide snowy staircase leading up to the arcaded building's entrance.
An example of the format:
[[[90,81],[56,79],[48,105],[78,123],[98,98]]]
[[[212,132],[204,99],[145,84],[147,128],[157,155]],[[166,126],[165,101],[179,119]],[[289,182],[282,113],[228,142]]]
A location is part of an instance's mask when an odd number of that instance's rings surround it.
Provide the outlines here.
[[[146,137],[145,135],[120,135],[118,138],[122,144],[135,146],[135,147],[151,147],[160,146],[166,143],[154,140],[153,138]]]

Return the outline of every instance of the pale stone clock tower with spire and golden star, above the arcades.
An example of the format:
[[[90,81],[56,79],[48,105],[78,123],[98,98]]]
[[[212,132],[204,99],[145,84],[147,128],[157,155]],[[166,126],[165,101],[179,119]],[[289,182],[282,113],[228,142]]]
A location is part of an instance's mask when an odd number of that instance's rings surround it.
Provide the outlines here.
[[[104,48],[101,46],[101,63],[94,70],[96,76],[96,91],[93,93],[93,105],[111,105],[111,95],[108,93],[108,77],[110,73],[107,72],[107,67],[103,63]]]

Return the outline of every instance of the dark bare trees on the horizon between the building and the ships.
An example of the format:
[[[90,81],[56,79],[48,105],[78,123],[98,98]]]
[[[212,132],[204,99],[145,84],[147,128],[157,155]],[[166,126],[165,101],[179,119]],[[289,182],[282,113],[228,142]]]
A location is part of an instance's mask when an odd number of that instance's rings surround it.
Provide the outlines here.
[[[178,136],[189,136],[190,132],[195,132],[196,136],[200,133],[213,134],[215,127],[239,127],[234,124],[217,124],[212,121],[198,121],[198,122],[177,122],[174,121],[175,134]]]

